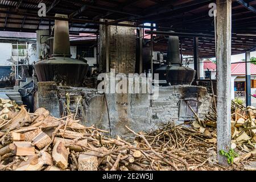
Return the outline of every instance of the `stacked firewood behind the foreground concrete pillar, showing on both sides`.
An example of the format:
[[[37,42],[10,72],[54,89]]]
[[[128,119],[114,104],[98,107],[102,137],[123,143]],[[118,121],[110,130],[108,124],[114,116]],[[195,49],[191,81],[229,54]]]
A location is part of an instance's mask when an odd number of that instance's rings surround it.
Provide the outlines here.
[[[249,106],[245,107],[242,104],[232,101],[232,147],[238,148],[245,152],[251,152],[256,150],[256,107]],[[196,117],[197,118],[197,117]],[[217,113],[212,108],[211,111],[206,115],[204,121],[193,123],[196,127],[209,137],[216,138],[216,127],[217,127]]]

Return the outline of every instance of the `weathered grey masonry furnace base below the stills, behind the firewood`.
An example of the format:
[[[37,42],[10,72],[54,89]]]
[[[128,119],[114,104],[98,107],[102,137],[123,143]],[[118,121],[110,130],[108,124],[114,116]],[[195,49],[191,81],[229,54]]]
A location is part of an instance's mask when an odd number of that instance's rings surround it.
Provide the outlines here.
[[[150,130],[159,123],[180,120],[180,103],[187,98],[198,101],[198,113],[201,119],[210,110],[212,97],[207,89],[199,86],[167,86],[159,88],[159,97],[148,100],[148,94],[102,94],[96,89],[58,88],[57,95],[60,115],[65,115],[66,94],[71,98],[70,110],[76,113],[85,126],[95,125],[100,129],[111,131],[112,135],[129,136],[125,126],[135,131]],[[77,107],[77,98],[82,96]],[[48,99],[48,98],[47,98]],[[41,98],[42,100],[42,98]],[[53,103],[51,102],[51,105]],[[56,104],[57,105],[57,104]],[[48,106],[49,109],[54,109]],[[50,110],[51,111],[51,110]]]

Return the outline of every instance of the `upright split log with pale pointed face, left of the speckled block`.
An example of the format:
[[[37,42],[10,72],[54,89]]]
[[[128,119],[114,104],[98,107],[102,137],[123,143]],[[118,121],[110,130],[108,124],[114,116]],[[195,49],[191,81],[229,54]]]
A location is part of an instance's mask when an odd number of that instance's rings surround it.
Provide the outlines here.
[[[61,169],[68,167],[68,150],[62,142],[57,142],[52,150],[52,158],[55,164]]]

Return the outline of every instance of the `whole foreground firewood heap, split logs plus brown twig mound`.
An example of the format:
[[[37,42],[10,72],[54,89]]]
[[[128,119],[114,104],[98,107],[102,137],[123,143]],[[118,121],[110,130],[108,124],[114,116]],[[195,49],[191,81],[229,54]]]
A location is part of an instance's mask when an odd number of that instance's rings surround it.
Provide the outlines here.
[[[183,125],[170,122],[148,133],[127,127],[134,138],[124,140],[74,118],[55,118],[43,108],[28,113],[0,99],[0,170],[227,170],[254,156],[225,168],[216,163],[216,143],[207,142],[213,137]]]

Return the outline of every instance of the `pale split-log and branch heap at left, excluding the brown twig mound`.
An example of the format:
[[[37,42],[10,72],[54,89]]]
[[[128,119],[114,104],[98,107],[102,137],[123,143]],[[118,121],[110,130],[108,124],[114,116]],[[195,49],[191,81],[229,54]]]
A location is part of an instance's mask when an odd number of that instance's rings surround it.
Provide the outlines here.
[[[80,125],[73,114],[55,118],[43,108],[28,113],[23,106],[20,111],[8,106],[0,113],[0,170],[189,169],[183,159],[163,155],[162,148],[128,127],[142,141],[105,137],[108,131]]]

